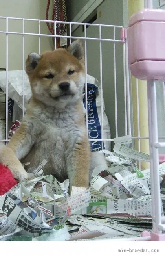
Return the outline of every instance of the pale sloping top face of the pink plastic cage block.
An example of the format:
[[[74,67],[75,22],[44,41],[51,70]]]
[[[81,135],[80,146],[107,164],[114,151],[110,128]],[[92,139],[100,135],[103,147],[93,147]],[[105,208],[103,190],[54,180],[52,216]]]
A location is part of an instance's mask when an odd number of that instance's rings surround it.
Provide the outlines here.
[[[140,21],[163,21],[165,22],[165,10],[142,9],[130,17],[128,26],[131,27]]]

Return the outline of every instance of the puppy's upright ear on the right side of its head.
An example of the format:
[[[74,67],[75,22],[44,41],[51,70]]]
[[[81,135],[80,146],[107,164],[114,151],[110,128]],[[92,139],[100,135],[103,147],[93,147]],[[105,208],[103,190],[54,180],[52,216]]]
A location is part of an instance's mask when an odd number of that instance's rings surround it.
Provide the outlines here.
[[[84,49],[81,40],[75,40],[67,49],[70,54],[75,56],[79,61],[84,61]]]

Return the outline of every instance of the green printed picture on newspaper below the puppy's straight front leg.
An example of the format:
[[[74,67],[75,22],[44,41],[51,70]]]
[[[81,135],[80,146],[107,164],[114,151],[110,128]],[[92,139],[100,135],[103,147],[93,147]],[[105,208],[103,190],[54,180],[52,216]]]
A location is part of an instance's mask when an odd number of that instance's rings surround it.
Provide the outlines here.
[[[88,214],[107,214],[107,199],[92,199],[89,202]]]

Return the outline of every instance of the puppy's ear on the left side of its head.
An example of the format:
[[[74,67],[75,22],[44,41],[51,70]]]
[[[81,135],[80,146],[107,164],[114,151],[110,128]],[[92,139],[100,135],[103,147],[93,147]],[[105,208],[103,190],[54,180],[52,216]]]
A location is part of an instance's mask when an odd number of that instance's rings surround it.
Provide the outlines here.
[[[30,75],[35,67],[37,66],[38,62],[40,61],[41,56],[36,52],[32,52],[28,55],[26,60],[26,73]]]

